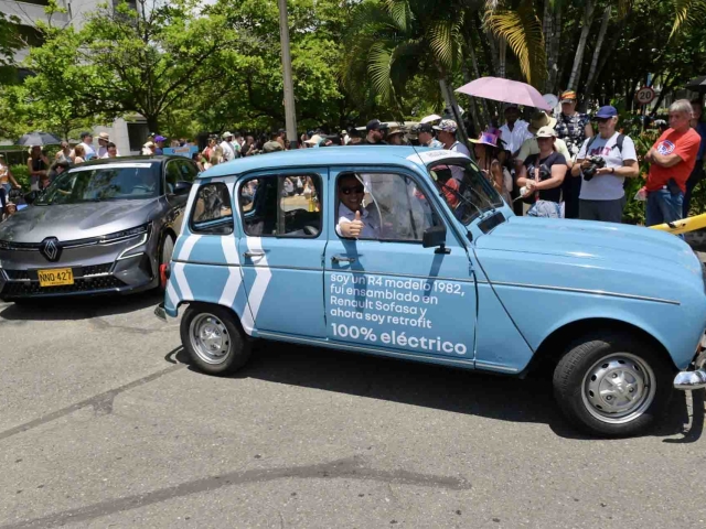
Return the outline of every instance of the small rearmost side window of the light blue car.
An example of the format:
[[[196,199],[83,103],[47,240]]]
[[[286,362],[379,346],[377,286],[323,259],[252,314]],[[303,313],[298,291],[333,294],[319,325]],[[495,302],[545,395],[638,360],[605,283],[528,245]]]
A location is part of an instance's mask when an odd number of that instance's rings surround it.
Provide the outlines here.
[[[199,187],[189,227],[194,234],[228,235],[233,233],[231,195],[223,182]]]

